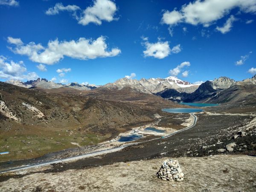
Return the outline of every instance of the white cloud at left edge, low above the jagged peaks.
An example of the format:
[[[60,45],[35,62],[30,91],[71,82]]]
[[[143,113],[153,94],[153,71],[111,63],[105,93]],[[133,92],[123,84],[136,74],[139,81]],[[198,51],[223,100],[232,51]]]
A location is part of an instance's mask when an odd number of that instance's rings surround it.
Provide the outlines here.
[[[24,74],[26,70],[23,61],[15,63],[14,61],[8,61],[6,57],[0,55],[0,78],[19,80],[34,80],[38,78],[35,72]]]

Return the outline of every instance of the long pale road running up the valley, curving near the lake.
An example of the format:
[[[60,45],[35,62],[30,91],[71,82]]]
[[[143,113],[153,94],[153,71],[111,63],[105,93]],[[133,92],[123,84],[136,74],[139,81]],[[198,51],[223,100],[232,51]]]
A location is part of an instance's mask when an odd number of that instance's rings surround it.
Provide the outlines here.
[[[172,135],[175,135],[177,133],[180,133],[182,131],[186,131],[186,130],[194,127],[195,124],[196,124],[196,121],[197,121],[197,116],[195,116],[194,113],[190,113],[190,115],[192,115],[194,117],[193,125],[191,125],[189,127],[186,127],[184,129],[181,129],[179,131],[176,131],[176,132],[174,132],[172,134],[169,134],[165,137],[155,138],[155,139],[152,139],[152,140],[158,140],[158,139],[164,139],[164,138],[167,138],[167,137],[171,137]],[[0,171],[0,174],[5,173],[5,172],[25,170],[25,169],[29,169],[29,168],[36,168],[36,167],[46,166],[46,165],[50,165],[50,164],[53,164],[53,163],[63,163],[63,162],[67,162],[67,161],[83,159],[83,158],[86,158],[86,157],[93,157],[93,156],[96,156],[96,155],[112,153],[112,152],[119,151],[119,150],[121,150],[125,147],[128,147],[128,146],[131,146],[131,145],[137,145],[139,143],[145,143],[145,142],[149,142],[149,141],[152,141],[152,140],[147,140],[147,141],[142,141],[142,142],[137,142],[137,143],[131,143],[131,144],[127,144],[127,145],[123,145],[123,146],[119,146],[119,147],[115,147],[115,148],[111,148],[111,149],[105,149],[105,150],[102,150],[102,151],[91,152],[91,153],[87,153],[87,154],[77,155],[77,156],[73,156],[73,157],[67,157],[67,158],[58,159],[58,160],[51,160],[51,161],[44,162],[44,163],[37,163],[37,164],[32,164],[32,165],[20,166],[20,167],[14,168],[14,169],[8,169],[8,170]]]

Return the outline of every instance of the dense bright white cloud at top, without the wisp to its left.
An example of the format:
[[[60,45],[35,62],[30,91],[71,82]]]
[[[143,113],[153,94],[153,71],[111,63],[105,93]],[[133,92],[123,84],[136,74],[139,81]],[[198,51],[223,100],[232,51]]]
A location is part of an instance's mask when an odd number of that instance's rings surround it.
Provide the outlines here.
[[[114,15],[117,11],[116,4],[111,0],[95,0],[93,6],[87,7],[82,17],[79,18],[79,24],[87,25],[95,23],[102,24],[102,20],[111,22],[115,20]]]

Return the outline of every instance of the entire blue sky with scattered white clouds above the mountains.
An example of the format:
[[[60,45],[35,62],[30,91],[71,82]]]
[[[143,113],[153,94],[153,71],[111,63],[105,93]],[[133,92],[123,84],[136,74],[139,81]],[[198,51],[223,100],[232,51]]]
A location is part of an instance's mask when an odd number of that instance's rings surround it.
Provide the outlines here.
[[[250,78],[256,0],[219,2],[0,0],[0,81]]]

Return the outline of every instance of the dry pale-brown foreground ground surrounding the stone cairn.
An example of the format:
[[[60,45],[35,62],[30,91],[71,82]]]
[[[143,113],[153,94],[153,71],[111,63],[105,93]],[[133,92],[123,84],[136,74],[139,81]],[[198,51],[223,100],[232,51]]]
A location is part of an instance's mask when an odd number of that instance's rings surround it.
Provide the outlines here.
[[[44,173],[48,167],[30,170],[19,178],[3,181],[0,191],[256,191],[256,157],[247,155],[215,155],[180,157],[177,160],[184,180],[166,181],[157,178],[162,162],[169,157],[114,163],[88,169]]]

